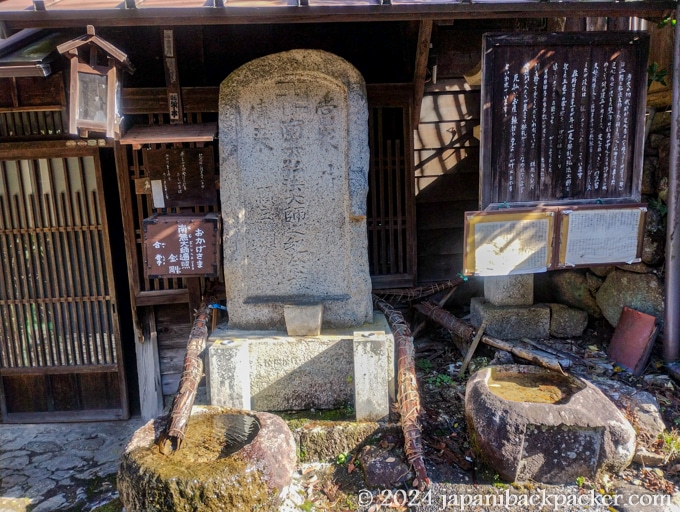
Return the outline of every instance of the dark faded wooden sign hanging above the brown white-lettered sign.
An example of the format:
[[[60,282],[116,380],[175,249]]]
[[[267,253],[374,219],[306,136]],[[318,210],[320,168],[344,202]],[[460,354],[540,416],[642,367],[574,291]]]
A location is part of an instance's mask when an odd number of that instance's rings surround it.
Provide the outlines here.
[[[145,150],[154,208],[217,202],[213,147]]]

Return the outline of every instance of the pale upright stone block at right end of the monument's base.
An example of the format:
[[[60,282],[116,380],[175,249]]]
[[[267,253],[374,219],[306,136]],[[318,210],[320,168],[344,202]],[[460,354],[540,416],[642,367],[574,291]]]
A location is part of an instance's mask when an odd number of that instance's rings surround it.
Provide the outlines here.
[[[387,419],[390,414],[387,376],[385,333],[356,333],[354,335],[354,410],[357,421]]]

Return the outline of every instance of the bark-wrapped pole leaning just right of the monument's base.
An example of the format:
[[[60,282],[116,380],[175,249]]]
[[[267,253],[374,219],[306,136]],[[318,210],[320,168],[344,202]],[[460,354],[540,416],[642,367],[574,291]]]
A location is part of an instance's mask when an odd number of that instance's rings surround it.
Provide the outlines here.
[[[420,394],[416,380],[413,338],[411,329],[399,311],[384,300],[373,296],[376,307],[387,317],[397,342],[397,385],[401,428],[404,433],[404,452],[416,474],[413,485],[424,490],[430,485],[423,462],[423,445],[420,430]]]

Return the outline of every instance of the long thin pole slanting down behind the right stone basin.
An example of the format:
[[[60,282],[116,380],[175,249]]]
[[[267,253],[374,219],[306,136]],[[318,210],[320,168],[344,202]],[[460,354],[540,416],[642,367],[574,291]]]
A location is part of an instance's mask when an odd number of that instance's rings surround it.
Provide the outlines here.
[[[425,316],[428,316],[438,324],[444,326],[452,334],[455,334],[466,341],[472,340],[475,336],[474,327],[456,318],[451,313],[440,308],[436,304],[431,302],[423,302],[421,304],[417,304],[415,308]],[[526,359],[527,361],[531,361],[532,363],[536,363],[539,366],[543,366],[544,368],[548,368],[562,374],[564,374],[563,367],[566,368],[571,363],[569,360],[558,359],[554,355],[548,354],[542,350],[531,349],[517,343],[494,338],[493,336],[482,336],[481,341],[486,345],[500,350],[505,350],[506,352],[510,352],[512,355]]]

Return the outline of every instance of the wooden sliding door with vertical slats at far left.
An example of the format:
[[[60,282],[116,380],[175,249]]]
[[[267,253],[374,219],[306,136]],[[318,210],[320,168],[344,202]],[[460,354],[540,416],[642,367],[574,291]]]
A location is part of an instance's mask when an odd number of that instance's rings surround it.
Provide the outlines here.
[[[96,148],[0,150],[5,422],[128,417]]]

